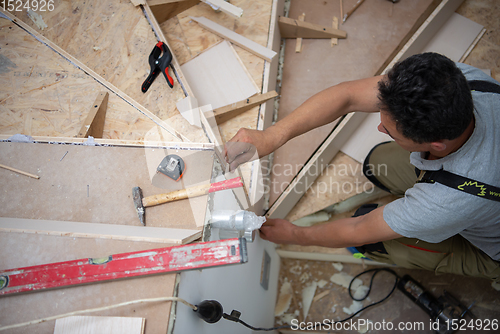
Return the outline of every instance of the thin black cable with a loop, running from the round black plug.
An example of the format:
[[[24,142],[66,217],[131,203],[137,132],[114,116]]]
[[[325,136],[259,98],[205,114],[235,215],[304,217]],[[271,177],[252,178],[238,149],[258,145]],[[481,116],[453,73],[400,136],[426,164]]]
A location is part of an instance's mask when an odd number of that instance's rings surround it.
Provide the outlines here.
[[[345,319],[342,319],[342,320],[339,320],[339,321],[330,321],[330,323],[323,323],[322,325],[327,325],[327,324],[334,324],[334,323],[337,323],[337,322],[345,322],[345,321],[348,321],[350,319],[352,319],[353,317],[355,317],[356,315],[358,315],[359,313],[363,312],[364,310],[372,307],[372,306],[375,306],[375,305],[378,305],[384,301],[386,301],[394,292],[394,290],[396,290],[396,287],[398,286],[398,281],[400,279],[400,277],[398,276],[398,274],[396,274],[395,271],[393,271],[392,269],[389,269],[389,268],[376,268],[376,269],[368,269],[368,270],[365,270],[361,273],[359,273],[358,275],[356,275],[352,280],[351,282],[349,283],[349,297],[352,298],[352,300],[354,301],[363,301],[365,300],[366,298],[368,298],[368,296],[370,295],[370,292],[372,290],[372,285],[373,285],[373,279],[375,278],[375,276],[381,272],[381,271],[386,271],[388,273],[391,273],[393,274],[395,277],[396,277],[396,281],[394,282],[394,286],[392,287],[391,291],[389,292],[389,294],[387,296],[385,296],[384,298],[382,298],[381,300],[379,300],[378,302],[375,302],[375,303],[372,303],[370,305],[367,305],[365,307],[363,307],[362,309],[360,309],[359,311],[351,314],[349,317],[345,318]],[[352,283],[354,282],[354,280],[356,278],[358,278],[359,276],[361,275],[364,275],[366,273],[369,273],[369,272],[373,272],[373,275],[370,279],[370,286],[368,287],[368,291],[366,292],[366,295],[363,297],[363,298],[360,298],[360,299],[356,299],[354,298],[354,296],[352,295],[352,292],[351,292],[351,287],[352,287]],[[234,311],[233,311],[234,312]],[[224,313],[223,314],[223,317],[224,319],[226,320],[230,320],[230,321],[234,321],[234,322],[237,322],[237,323],[240,323],[242,324],[243,326],[247,327],[247,328],[250,328],[251,330],[254,330],[254,331],[273,331],[273,330],[277,330],[277,329],[290,329],[292,326],[289,326],[289,325],[284,325],[284,326],[278,326],[278,327],[272,327],[272,328],[260,328],[260,327],[253,327],[249,324],[247,324],[246,322],[244,322],[243,320],[241,320],[239,318],[239,315],[240,313],[237,312],[237,316],[233,316],[232,314],[229,315],[227,313]]]

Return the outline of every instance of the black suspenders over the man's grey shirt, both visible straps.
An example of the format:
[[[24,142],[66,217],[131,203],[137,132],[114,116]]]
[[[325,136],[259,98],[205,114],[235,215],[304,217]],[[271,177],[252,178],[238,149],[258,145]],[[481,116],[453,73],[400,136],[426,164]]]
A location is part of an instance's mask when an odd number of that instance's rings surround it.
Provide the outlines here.
[[[500,86],[489,81],[469,81],[469,87],[473,91],[500,94]],[[479,182],[468,177],[460,176],[443,169],[437,171],[417,171],[420,176],[417,183],[441,183],[453,189],[466,192],[481,198],[500,202],[500,188]]]

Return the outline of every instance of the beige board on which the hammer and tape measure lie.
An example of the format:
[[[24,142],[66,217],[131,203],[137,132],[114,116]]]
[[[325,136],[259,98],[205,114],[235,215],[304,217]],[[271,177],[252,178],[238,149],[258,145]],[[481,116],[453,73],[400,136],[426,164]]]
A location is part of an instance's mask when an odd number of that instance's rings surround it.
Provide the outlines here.
[[[181,156],[187,165],[179,182],[156,173],[167,154]],[[0,156],[3,164],[40,176],[1,170],[0,216],[134,226],[141,224],[133,187],[148,196],[205,184],[213,163],[212,150],[9,142],[0,143]],[[146,208],[146,225],[196,229],[203,225],[206,201],[201,196]]]

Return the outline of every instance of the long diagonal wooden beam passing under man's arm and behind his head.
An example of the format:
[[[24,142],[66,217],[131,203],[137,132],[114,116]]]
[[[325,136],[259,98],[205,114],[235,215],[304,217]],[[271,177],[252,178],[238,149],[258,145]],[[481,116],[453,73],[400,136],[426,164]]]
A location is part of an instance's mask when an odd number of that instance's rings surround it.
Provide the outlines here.
[[[435,34],[435,29],[439,29],[441,25],[444,24],[441,20],[449,18],[462,1],[463,0],[442,0],[439,6],[430,13],[430,16],[424,20],[424,23],[418,29],[410,30],[410,34],[412,32],[414,33],[407,39],[407,44],[402,47],[398,46],[397,49],[399,49],[399,52],[397,52],[396,56],[388,62],[386,68],[382,69],[381,73],[378,74],[385,74],[397,61],[403,60],[411,54],[414,54],[412,53],[413,51],[418,52],[417,46],[425,45],[427,43],[426,41],[429,41]],[[422,16],[417,20],[415,25],[419,24],[421,19]],[[436,20],[438,20],[440,24],[434,23]],[[380,70],[377,72],[380,72]],[[295,176],[286,190],[278,197],[276,202],[268,210],[266,216],[269,218],[284,218],[299,201],[305,190],[312,185],[313,181],[325,168],[326,164],[328,164],[331,158],[339,151],[339,148],[348,140],[352,131],[361,124],[366,116],[367,115],[364,113],[351,113],[347,115],[321,144],[316,153]],[[311,173],[311,170],[319,172]]]

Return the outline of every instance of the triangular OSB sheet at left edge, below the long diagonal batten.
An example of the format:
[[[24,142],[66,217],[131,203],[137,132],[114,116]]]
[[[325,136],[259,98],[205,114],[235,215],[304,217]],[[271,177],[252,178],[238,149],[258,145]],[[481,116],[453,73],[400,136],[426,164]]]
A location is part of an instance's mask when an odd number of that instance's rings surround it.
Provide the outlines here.
[[[94,78],[6,19],[0,19],[0,44],[0,133],[76,136],[100,91],[109,93],[103,138],[142,140],[155,126]]]

